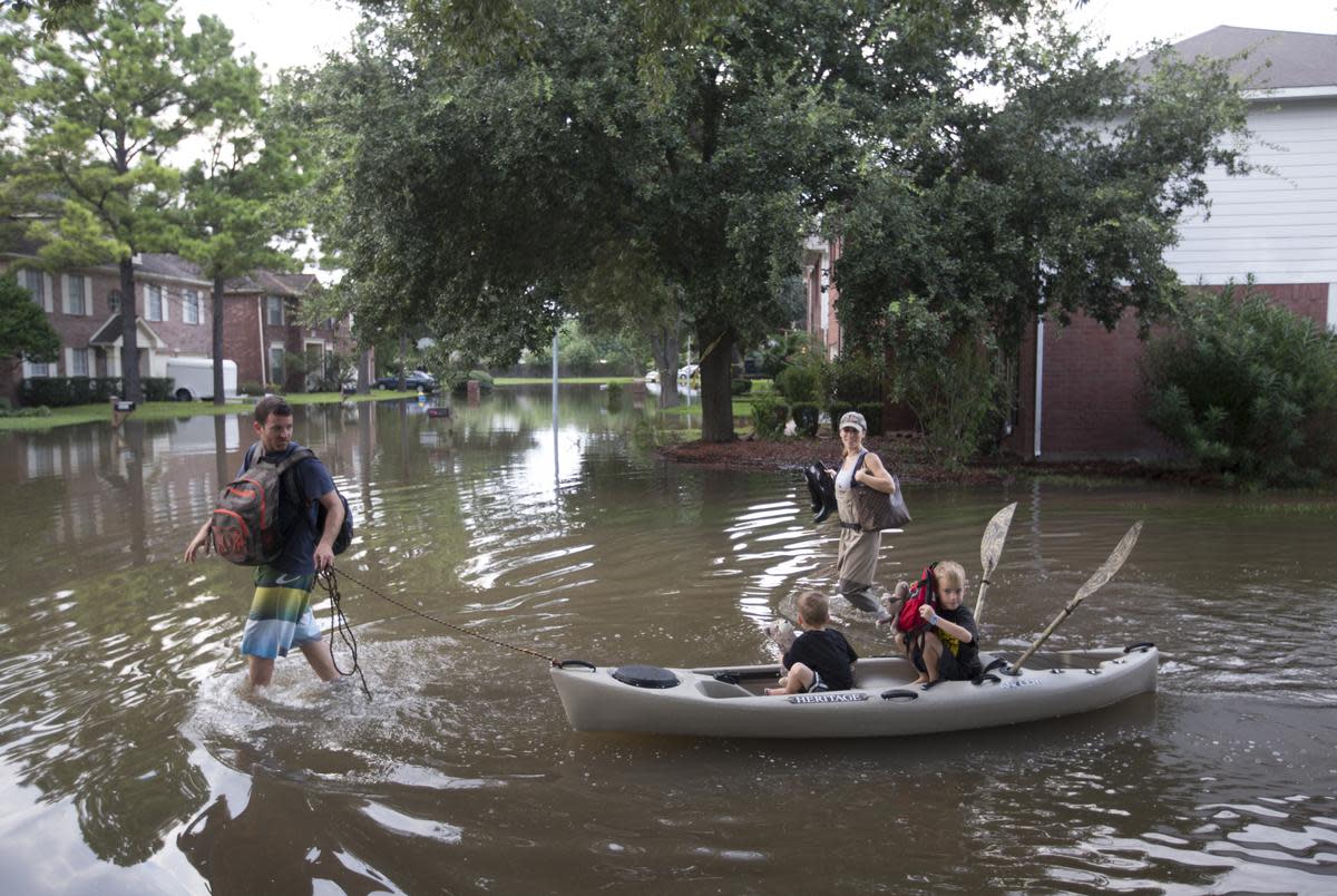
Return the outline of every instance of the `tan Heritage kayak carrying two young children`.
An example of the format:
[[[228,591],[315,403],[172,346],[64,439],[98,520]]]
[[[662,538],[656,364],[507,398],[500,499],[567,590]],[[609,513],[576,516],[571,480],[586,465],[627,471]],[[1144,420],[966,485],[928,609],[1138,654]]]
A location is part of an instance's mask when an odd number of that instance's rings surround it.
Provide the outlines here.
[[[992,654],[980,654],[989,665]],[[976,682],[910,685],[900,658],[860,659],[854,689],[766,697],[777,666],[733,669],[552,667],[571,726],[697,737],[896,737],[1035,722],[1087,713],[1157,689],[1159,653],[1148,643],[1051,654],[1054,669],[1005,666]]]

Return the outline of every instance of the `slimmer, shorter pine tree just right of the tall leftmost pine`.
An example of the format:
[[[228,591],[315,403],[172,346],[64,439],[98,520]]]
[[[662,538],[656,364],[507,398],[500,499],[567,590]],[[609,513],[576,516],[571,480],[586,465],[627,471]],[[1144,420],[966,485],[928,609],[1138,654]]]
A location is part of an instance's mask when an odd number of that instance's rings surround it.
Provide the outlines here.
[[[227,72],[226,92],[205,128],[209,151],[186,171],[180,254],[213,281],[214,404],[223,404],[223,286],[255,267],[289,270],[275,237],[295,238],[303,223],[295,194],[309,170],[309,146],[279,110],[262,102],[251,58]],[[282,86],[279,87],[282,90]]]

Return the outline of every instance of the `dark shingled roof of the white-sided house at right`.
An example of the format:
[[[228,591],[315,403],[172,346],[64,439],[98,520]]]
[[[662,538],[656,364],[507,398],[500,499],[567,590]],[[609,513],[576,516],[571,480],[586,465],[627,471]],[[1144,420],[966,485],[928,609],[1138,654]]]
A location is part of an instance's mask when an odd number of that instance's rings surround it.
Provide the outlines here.
[[[1337,35],[1218,25],[1171,44],[1170,51],[1183,59],[1245,53],[1231,63],[1230,74],[1254,90],[1337,86]],[[1150,55],[1138,60],[1142,70],[1150,66]]]

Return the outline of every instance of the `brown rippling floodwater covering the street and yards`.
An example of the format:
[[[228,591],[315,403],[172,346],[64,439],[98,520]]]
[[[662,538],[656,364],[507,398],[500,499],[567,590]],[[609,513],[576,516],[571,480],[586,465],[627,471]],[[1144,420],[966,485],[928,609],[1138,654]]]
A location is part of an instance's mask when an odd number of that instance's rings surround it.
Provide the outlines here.
[[[249,571],[180,562],[245,419],[0,435],[4,892],[1337,891],[1334,501],[908,483],[884,584],[941,556],[977,575],[985,522],[1019,503],[984,619],[1011,650],[1146,520],[1051,643],[1154,641],[1159,693],[906,740],[580,734],[543,659],[464,633],[769,662],[762,626],[834,579],[797,473],[666,464],[644,404],[564,388],[556,433],[541,388],[449,420],[298,408],[356,514],[340,566],[463,629],[345,579],[370,702],[297,654],[250,694]]]

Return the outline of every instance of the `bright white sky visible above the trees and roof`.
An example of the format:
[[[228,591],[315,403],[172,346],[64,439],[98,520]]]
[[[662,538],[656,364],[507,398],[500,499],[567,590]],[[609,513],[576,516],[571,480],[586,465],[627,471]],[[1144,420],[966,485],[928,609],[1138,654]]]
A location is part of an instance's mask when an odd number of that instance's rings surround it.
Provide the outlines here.
[[[176,7],[189,20],[222,19],[270,75],[342,49],[358,19],[350,0],[178,0]],[[1090,0],[1071,17],[1108,36],[1111,49],[1132,52],[1217,25],[1337,33],[1337,0]]]

